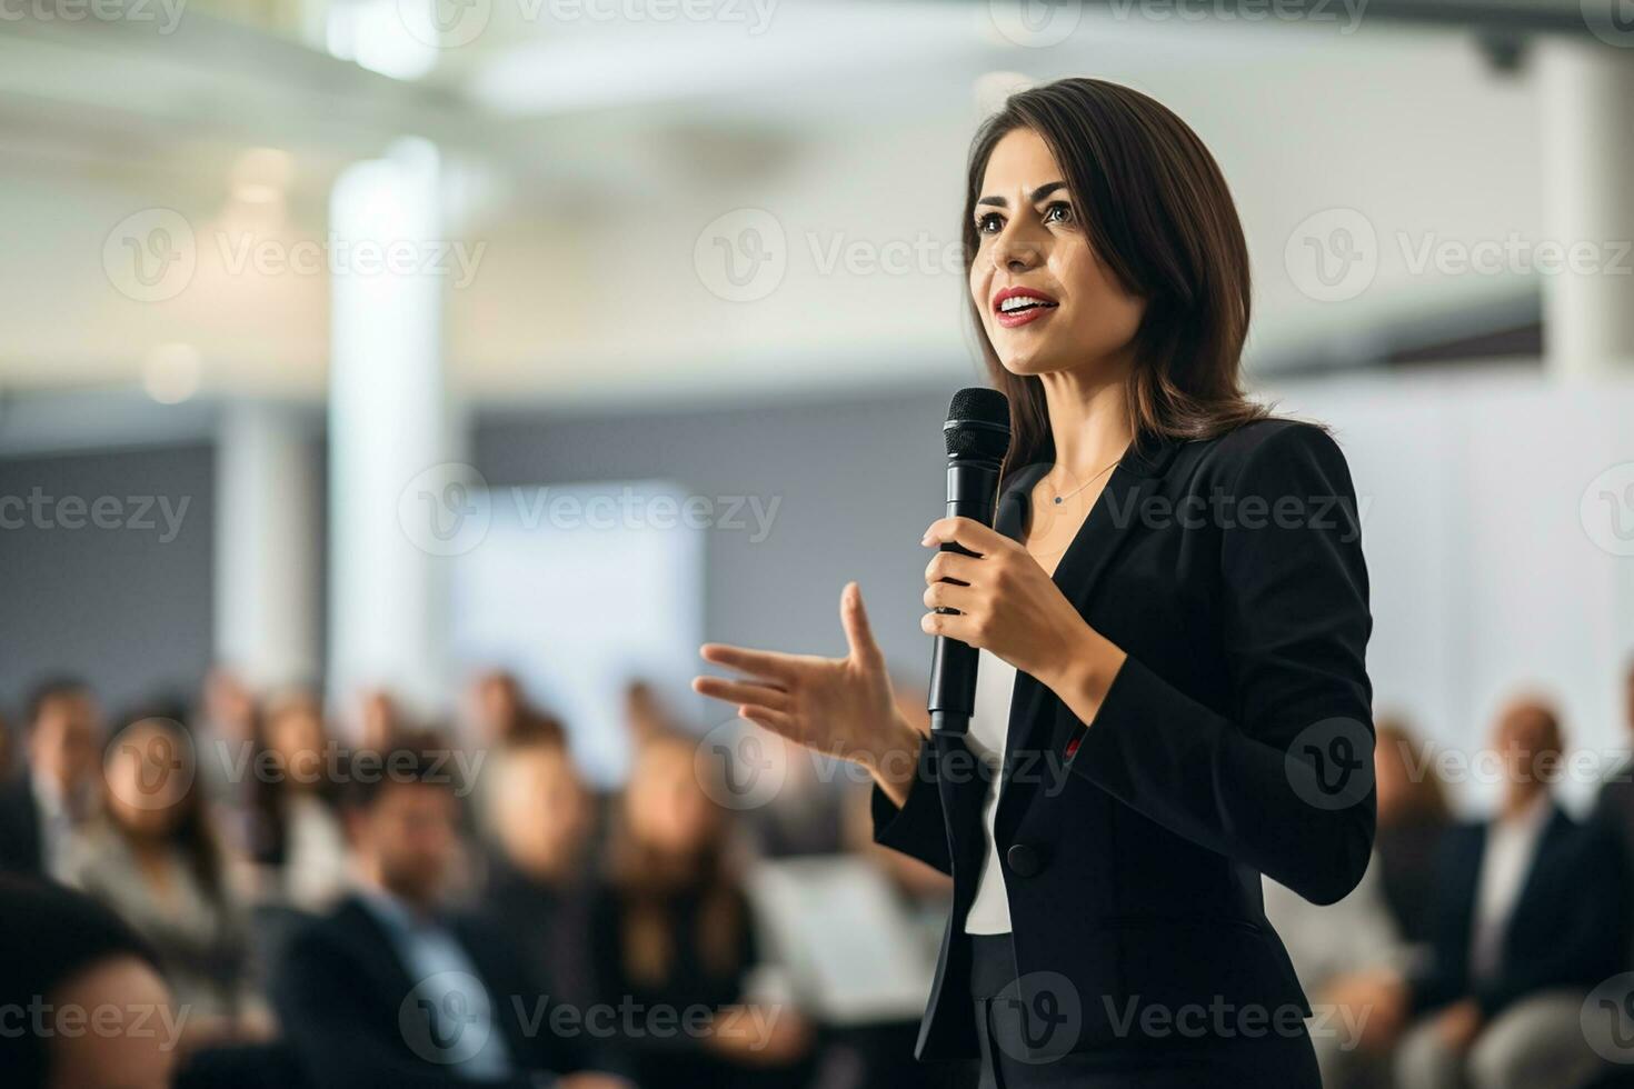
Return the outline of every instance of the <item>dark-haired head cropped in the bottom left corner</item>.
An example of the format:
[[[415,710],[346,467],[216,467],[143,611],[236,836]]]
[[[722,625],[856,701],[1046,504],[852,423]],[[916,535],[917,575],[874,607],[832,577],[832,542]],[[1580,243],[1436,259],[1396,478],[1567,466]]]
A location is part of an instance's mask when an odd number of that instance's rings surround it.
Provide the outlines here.
[[[152,950],[62,885],[0,875],[0,1081],[170,1089],[178,1011]]]

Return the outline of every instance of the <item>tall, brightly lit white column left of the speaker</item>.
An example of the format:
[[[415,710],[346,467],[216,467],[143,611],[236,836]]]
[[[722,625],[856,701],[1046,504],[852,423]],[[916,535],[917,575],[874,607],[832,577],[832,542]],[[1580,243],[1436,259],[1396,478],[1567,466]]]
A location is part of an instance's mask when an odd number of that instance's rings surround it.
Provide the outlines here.
[[[449,460],[443,384],[444,286],[428,261],[441,233],[441,168],[402,140],[335,183],[330,227],[330,694],[386,687],[410,712],[451,705],[438,540],[400,516]],[[407,250],[405,250],[407,247]],[[407,251],[413,260],[400,258]]]

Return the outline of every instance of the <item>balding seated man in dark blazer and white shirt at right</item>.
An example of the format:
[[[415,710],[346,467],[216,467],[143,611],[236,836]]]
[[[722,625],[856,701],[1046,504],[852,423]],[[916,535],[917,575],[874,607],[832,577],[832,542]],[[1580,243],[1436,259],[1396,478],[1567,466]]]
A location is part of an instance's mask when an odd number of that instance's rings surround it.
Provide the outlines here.
[[[1433,955],[1405,985],[1423,1017],[1397,1053],[1400,1089],[1570,1089],[1600,1068],[1580,1014],[1627,949],[1626,880],[1609,836],[1551,797],[1562,745],[1539,700],[1498,718],[1503,797],[1446,836]]]

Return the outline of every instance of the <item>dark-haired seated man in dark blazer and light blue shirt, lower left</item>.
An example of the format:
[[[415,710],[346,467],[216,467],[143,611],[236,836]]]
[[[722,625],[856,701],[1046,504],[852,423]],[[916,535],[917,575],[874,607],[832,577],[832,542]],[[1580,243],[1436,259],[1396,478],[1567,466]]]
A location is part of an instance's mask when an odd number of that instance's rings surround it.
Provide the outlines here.
[[[624,1087],[562,1074],[580,1040],[539,1017],[546,996],[516,950],[441,911],[459,844],[459,784],[441,754],[400,738],[348,772],[359,888],[299,931],[273,973],[292,1050],[320,1089]]]

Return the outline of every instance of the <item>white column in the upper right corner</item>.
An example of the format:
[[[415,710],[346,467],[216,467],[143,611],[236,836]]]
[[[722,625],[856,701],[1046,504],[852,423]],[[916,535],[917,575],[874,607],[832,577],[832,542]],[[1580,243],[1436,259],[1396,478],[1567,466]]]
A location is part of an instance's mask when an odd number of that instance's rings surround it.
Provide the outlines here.
[[[1634,46],[1634,41],[1627,42]],[[1544,276],[1544,358],[1559,376],[1634,367],[1634,49],[1538,42],[1547,238],[1593,268]],[[1583,245],[1587,243],[1587,245]]]

